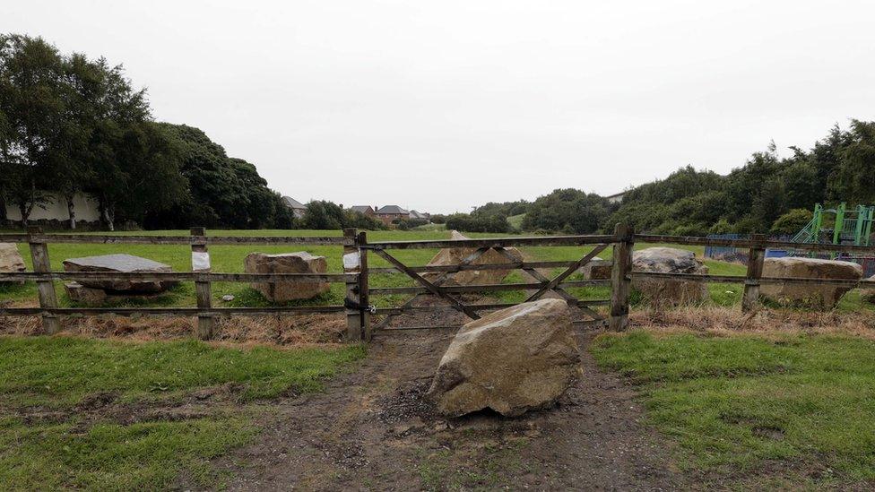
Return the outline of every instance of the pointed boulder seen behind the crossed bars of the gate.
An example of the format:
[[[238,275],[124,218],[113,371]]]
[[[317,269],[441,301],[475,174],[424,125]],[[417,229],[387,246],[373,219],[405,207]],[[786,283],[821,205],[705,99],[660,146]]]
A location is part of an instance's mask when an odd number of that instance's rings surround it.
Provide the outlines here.
[[[461,232],[454,230],[450,233],[450,239],[454,241],[467,239]],[[514,258],[513,262],[522,262],[523,255],[515,247],[505,248],[507,252]],[[434,258],[429,262],[429,266],[446,266],[456,265],[477,251],[476,248],[469,247],[448,247],[437,252]],[[513,263],[506,255],[500,252],[489,249],[486,253],[480,255],[472,264],[499,264]],[[501,283],[507,274],[513,269],[508,270],[464,270],[462,272],[450,273],[446,277],[443,285],[483,285]],[[429,272],[423,276],[428,281],[435,281],[443,275],[443,272]]]

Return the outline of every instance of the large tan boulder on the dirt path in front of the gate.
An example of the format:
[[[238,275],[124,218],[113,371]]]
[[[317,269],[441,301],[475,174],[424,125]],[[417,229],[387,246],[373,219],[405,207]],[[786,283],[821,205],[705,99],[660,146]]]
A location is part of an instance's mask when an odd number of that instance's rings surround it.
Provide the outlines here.
[[[567,303],[541,299],[465,324],[440,359],[429,397],[449,417],[547,408],[582,374]]]

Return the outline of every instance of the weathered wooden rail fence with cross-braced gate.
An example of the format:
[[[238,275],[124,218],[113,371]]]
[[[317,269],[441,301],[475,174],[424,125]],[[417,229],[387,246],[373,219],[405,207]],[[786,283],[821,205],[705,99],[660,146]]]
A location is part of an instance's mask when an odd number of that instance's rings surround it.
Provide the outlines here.
[[[367,233],[355,229],[343,231],[343,237],[216,237],[206,236],[203,228],[191,229],[190,236],[106,236],[82,234],[43,234],[39,228],[29,229],[27,234],[0,234],[0,243],[27,243],[33,260],[33,272],[0,272],[0,281],[36,281],[39,291],[39,307],[0,306],[0,316],[39,315],[43,329],[54,333],[60,329],[59,316],[65,315],[181,315],[196,316],[197,335],[202,339],[212,338],[215,320],[227,315],[311,315],[344,313],[347,318],[347,338],[351,341],[370,340],[374,332],[434,328],[435,326],[391,327],[389,321],[396,315],[420,310],[455,309],[469,318],[477,319],[484,311],[514,306],[514,303],[470,304],[459,294],[489,293],[505,290],[526,290],[525,299],[532,301],[555,292],[571,306],[578,307],[588,320],[576,322],[579,326],[607,326],[610,330],[623,330],[628,324],[629,290],[633,277],[662,278],[667,280],[728,282],[744,285],[741,308],[750,311],[758,306],[759,286],[764,283],[795,282],[835,285],[848,288],[875,286],[875,281],[799,279],[763,277],[763,261],[768,247],[790,248],[807,251],[835,251],[846,253],[875,253],[875,246],[838,246],[797,244],[786,241],[769,241],[765,236],[755,235],[749,239],[721,239],[708,237],[678,237],[634,234],[626,226],[618,225],[611,235],[553,236],[553,237],[497,237],[463,240],[384,241],[368,242]],[[138,245],[186,245],[191,247],[192,272],[52,272],[48,257],[49,243],[83,244],[138,244]],[[747,272],[738,275],[699,275],[687,273],[655,273],[632,271],[632,249],[636,243],[669,244],[682,246],[732,246],[747,248],[749,262]],[[342,246],[343,273],[221,273],[212,272],[208,246],[213,245],[272,245],[272,246]],[[507,253],[509,247],[526,246],[580,246],[581,257],[575,261],[532,262],[518,260]],[[568,277],[579,272],[606,248],[612,248],[611,279],[570,281]],[[404,249],[465,248],[471,251],[457,264],[407,265],[391,252]],[[475,264],[482,255],[493,250],[505,255],[507,263]],[[368,255],[377,255],[391,266],[368,267]],[[548,278],[542,271],[562,268],[559,275]],[[533,281],[521,283],[497,283],[483,285],[445,285],[452,273],[485,270],[521,270]],[[404,274],[415,282],[413,287],[371,287],[369,276],[373,273],[395,272]],[[421,273],[421,274],[420,274]],[[423,275],[424,274],[424,275]],[[428,277],[428,279],[427,279]],[[58,307],[55,281],[193,281],[195,282],[195,307]],[[270,307],[214,307],[212,306],[212,282],[279,282],[279,281],[325,281],[342,282],[346,295],[342,305],[326,306],[270,306]],[[611,286],[607,299],[578,299],[568,293],[568,288],[584,286]],[[402,306],[375,307],[371,296],[413,294],[414,298]],[[416,306],[417,296],[430,295],[446,302],[446,306]],[[608,314],[601,315],[593,307],[609,306]],[[374,324],[372,316],[383,316]]]

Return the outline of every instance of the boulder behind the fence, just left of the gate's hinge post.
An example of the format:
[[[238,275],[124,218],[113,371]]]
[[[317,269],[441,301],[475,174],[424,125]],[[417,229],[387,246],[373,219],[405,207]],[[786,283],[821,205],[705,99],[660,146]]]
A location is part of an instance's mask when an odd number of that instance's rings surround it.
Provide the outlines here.
[[[310,255],[306,251],[280,255],[250,253],[246,257],[245,266],[247,273],[325,273],[328,271],[325,256]],[[331,289],[331,284],[322,281],[255,282],[252,288],[272,302],[285,302],[315,298]]]

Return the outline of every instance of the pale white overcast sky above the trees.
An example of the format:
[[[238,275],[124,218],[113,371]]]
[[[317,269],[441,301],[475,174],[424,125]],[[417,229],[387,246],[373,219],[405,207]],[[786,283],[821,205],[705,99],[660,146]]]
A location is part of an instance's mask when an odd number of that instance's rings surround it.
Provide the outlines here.
[[[123,63],[301,202],[419,211],[725,173],[875,119],[875,3],[36,1],[0,31]]]

